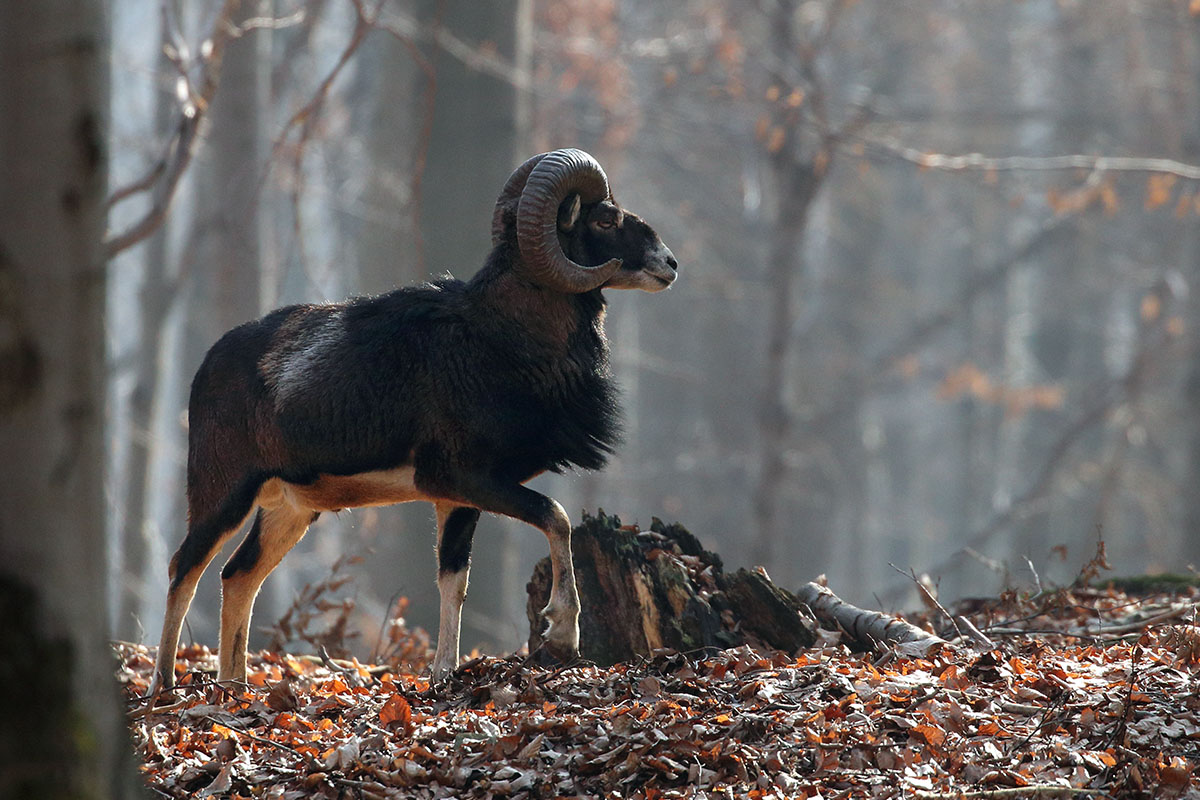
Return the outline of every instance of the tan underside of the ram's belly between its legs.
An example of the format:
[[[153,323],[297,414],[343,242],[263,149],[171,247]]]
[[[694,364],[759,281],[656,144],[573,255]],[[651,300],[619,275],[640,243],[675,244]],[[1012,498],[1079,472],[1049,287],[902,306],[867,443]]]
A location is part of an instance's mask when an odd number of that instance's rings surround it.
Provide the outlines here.
[[[356,475],[320,475],[312,483],[288,483],[283,479],[272,477],[259,491],[258,504],[264,509],[289,503],[313,511],[337,511],[428,500],[416,488],[413,479],[412,467]]]

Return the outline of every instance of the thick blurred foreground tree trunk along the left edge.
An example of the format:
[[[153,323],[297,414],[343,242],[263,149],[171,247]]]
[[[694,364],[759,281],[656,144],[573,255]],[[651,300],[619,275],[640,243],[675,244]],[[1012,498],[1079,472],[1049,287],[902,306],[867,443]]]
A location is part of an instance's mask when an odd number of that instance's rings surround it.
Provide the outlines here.
[[[0,5],[0,794],[115,798],[98,0]]]

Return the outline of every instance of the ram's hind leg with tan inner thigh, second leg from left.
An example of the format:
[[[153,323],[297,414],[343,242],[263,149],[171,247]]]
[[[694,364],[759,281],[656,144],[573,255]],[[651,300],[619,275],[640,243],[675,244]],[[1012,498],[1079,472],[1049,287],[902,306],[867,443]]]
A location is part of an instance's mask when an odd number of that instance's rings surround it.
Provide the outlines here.
[[[266,576],[295,547],[319,515],[283,501],[259,509],[254,527],[221,570],[218,680],[246,679],[246,638],[254,597]]]

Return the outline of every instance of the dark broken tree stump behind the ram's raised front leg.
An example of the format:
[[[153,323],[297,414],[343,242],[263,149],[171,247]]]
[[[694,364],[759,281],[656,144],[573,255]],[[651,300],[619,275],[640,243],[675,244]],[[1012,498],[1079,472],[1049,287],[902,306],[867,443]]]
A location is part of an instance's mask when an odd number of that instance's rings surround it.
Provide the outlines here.
[[[600,511],[571,536],[580,593],[580,655],[608,667],[653,650],[682,652],[742,644],[794,654],[816,640],[816,622],[796,595],[763,572],[725,572],[721,559],[683,525],[649,530]],[[538,652],[550,599],[550,559],[527,587],[529,652]]]

